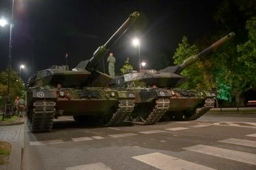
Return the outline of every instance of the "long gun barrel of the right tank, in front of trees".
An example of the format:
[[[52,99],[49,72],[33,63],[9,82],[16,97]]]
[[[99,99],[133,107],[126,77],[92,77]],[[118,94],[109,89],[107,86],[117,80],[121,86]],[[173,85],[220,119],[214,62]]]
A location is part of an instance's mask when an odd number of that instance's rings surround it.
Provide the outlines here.
[[[223,45],[227,40],[231,39],[234,36],[235,36],[235,34],[233,32],[231,32],[228,35],[226,35],[226,36],[222,37],[221,39],[219,39],[218,41],[216,41],[215,43],[213,43],[208,48],[201,51],[199,54],[191,55],[180,65],[180,67],[175,71],[175,73],[181,73],[185,68],[189,67],[191,64],[195,63],[200,58],[206,56],[213,50],[217,49],[219,46]]]

